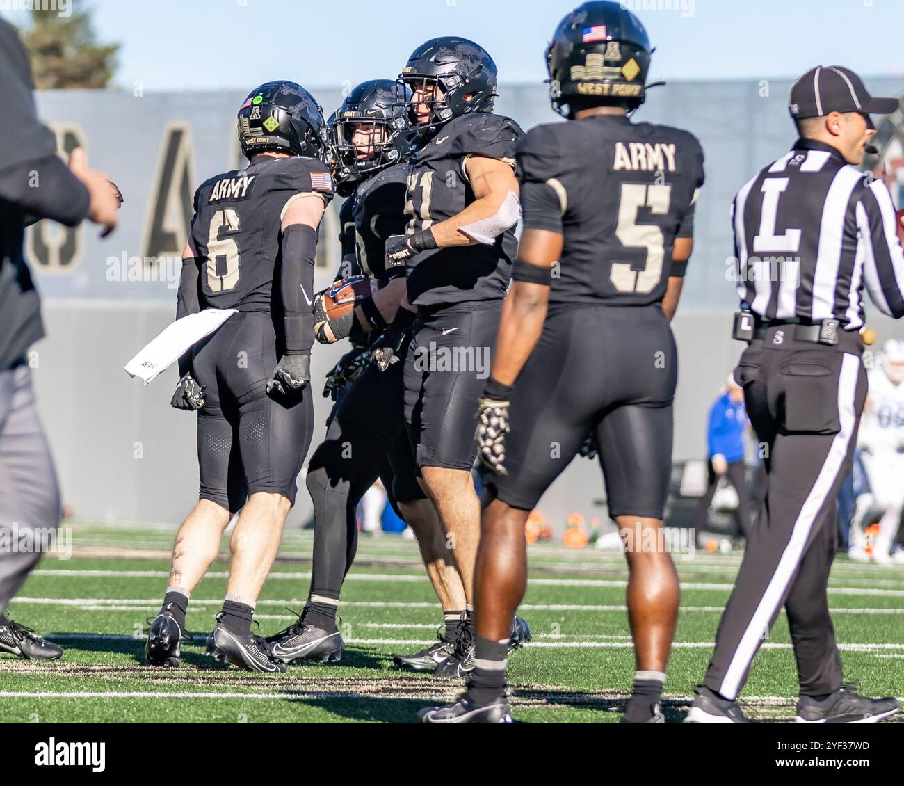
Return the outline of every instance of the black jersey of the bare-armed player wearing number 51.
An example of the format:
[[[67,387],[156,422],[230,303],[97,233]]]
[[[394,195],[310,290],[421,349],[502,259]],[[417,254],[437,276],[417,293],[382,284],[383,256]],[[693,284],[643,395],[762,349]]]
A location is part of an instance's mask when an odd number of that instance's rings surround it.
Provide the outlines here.
[[[449,121],[412,156],[408,172],[408,233],[461,213],[475,201],[466,164],[470,156],[514,166],[523,131],[510,118],[476,112]],[[504,298],[518,250],[514,227],[493,245],[422,251],[408,260],[408,298],[416,306],[439,306]]]

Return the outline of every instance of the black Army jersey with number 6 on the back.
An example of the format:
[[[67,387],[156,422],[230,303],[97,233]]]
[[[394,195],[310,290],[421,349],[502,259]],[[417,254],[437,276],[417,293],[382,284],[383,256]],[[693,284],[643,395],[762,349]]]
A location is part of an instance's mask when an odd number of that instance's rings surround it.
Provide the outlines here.
[[[202,265],[202,308],[270,310],[282,216],[303,194],[333,197],[329,170],[316,158],[255,156],[246,169],[198,188],[192,241]]]

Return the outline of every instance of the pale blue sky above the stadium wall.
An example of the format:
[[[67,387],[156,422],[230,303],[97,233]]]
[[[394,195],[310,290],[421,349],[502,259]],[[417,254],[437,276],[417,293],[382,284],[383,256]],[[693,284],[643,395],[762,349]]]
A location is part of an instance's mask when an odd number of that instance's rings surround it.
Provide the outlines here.
[[[419,43],[464,35],[500,80],[546,77],[543,50],[571,0],[71,0],[122,43],[132,90],[241,89],[271,79],[341,87],[395,76]],[[904,0],[626,0],[657,51],[651,79],[767,79],[817,63],[904,75]],[[22,14],[8,14],[14,22]]]

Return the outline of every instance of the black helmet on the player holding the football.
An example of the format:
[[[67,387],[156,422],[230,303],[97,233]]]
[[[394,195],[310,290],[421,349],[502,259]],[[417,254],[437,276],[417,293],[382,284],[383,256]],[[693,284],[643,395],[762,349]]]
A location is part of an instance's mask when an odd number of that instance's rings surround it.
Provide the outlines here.
[[[402,131],[410,95],[410,90],[401,92],[393,80],[362,82],[348,94],[326,124],[337,182],[357,183],[409,155],[408,137]],[[354,132],[361,127],[373,131],[372,139],[381,138],[372,141],[365,157],[358,156],[353,143]]]

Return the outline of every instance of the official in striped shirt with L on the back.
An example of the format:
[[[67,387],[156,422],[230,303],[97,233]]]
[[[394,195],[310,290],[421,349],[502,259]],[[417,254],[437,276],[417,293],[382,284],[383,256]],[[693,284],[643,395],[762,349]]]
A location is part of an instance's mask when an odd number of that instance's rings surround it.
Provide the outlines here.
[[[807,71],[791,88],[799,139],[732,204],[741,311],[749,342],[735,378],[767,446],[767,492],[703,685],[685,723],[748,723],[735,703],[750,664],[785,607],[800,683],[798,723],[876,723],[893,698],[842,682],[826,584],[835,497],[851,471],[866,398],[862,289],[883,314],[904,316],[904,253],[888,189],[856,168],[876,133],[874,99],[840,66]]]

